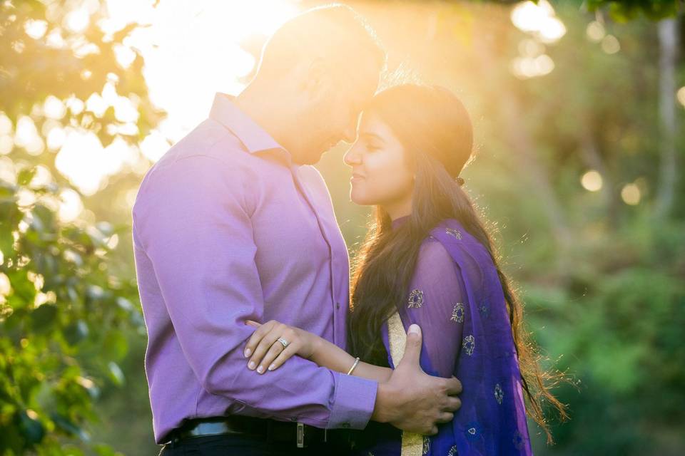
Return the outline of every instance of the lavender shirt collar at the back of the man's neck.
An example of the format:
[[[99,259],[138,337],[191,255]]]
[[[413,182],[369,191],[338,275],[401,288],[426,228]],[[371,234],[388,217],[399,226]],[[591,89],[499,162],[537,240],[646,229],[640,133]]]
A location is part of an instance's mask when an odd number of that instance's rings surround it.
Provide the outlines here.
[[[228,128],[250,153],[285,148],[235,105],[235,97],[217,92],[209,117]]]

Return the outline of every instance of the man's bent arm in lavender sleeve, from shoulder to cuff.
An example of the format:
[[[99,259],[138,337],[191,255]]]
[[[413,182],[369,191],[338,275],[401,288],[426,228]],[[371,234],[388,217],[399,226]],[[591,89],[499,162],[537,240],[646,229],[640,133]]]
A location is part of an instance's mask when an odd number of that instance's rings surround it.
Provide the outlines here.
[[[246,368],[243,347],[253,330],[244,321],[263,318],[264,303],[243,183],[226,167],[198,155],[159,167],[133,214],[188,364],[209,393],[274,418],[365,427],[375,382],[301,358],[268,376]]]

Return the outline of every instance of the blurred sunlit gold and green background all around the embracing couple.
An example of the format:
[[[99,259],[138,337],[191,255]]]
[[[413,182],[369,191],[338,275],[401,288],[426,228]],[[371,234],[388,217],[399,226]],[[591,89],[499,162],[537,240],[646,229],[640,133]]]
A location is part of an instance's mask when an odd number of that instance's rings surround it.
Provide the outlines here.
[[[319,1],[0,1],[0,454],[151,455],[138,184]],[[685,454],[681,1],[351,1],[384,85],[460,95],[466,189],[572,384],[538,455]],[[350,252],[345,146],[317,165]]]

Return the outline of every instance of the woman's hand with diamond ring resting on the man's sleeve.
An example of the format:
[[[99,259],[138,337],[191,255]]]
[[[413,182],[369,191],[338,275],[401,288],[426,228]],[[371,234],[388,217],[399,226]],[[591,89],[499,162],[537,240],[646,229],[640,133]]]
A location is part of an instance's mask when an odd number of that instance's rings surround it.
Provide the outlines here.
[[[268,366],[269,371],[278,369],[293,355],[310,358],[320,340],[318,336],[308,331],[275,320],[264,324],[248,320],[245,324],[254,326],[257,330],[248,339],[243,354],[245,358],[252,355],[248,362],[248,369],[253,371],[257,368],[260,374],[266,372],[265,366]],[[283,338],[288,346],[284,347],[283,343],[278,341],[279,338]]]

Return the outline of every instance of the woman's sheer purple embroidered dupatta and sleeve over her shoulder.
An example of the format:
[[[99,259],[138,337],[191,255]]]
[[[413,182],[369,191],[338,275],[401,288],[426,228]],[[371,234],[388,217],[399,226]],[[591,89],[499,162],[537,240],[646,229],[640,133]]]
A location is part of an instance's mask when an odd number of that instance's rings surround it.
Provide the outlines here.
[[[456,220],[442,222],[422,244],[408,296],[398,311],[405,331],[422,328],[423,370],[455,375],[464,387],[462,408],[425,437],[423,454],[532,455],[509,315],[487,249]],[[385,325],[382,337],[390,353]],[[372,454],[398,450],[385,442]]]

